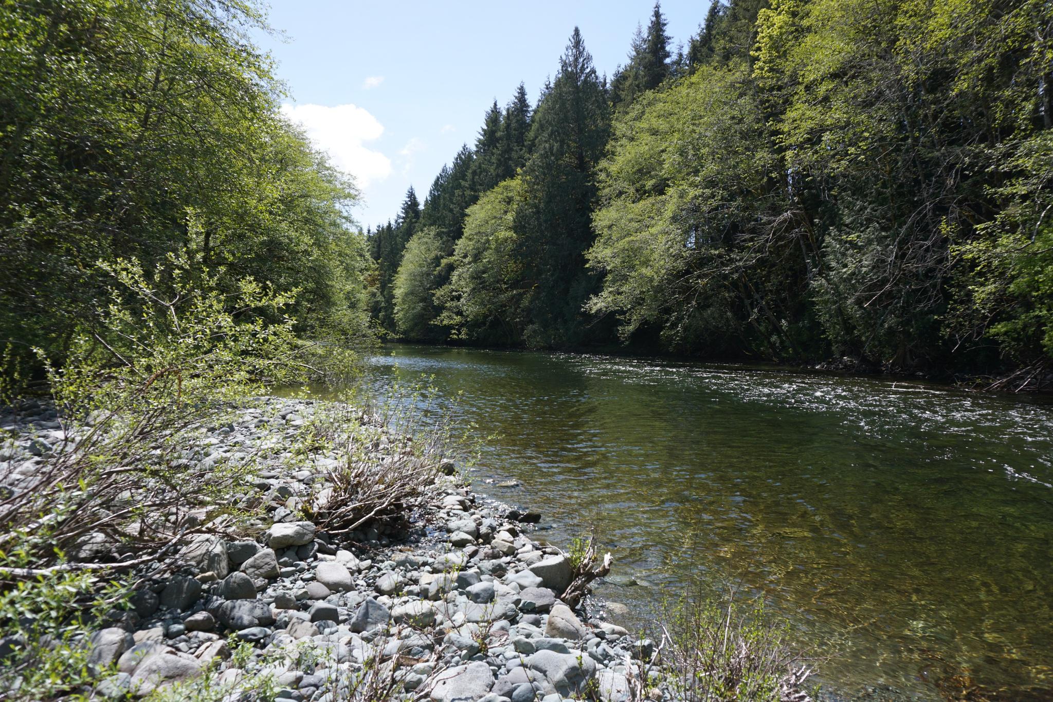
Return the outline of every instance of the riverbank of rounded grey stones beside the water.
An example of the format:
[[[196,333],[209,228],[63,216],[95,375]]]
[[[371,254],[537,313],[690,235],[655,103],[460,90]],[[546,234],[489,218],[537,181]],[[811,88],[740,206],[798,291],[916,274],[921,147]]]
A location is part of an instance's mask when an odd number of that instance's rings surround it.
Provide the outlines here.
[[[296,702],[640,695],[634,671],[654,643],[608,621],[603,608],[575,611],[560,601],[574,566],[533,537],[536,515],[483,501],[439,474],[401,523],[334,535],[305,520],[305,508],[332,490],[329,468],[340,457],[304,465],[281,447],[315,407],[265,401],[210,429],[184,458],[216,463],[270,447],[250,490],[263,506],[240,538],[195,536],[140,582],[128,608],[83,631],[91,664],[107,671],[83,691],[182,699],[207,690],[207,699],[235,700],[256,689]],[[0,422],[9,435],[0,456],[8,482],[68,442],[54,409]],[[376,449],[396,445],[393,438]]]

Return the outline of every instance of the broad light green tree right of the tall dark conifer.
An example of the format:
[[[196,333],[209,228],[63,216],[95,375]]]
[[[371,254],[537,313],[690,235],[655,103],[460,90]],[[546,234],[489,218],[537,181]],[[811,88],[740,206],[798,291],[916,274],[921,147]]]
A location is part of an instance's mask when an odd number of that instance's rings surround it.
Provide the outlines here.
[[[782,225],[778,168],[747,71],[703,68],[648,94],[615,122],[600,167],[589,301],[623,339],[658,328],[665,347],[795,357],[807,262]]]

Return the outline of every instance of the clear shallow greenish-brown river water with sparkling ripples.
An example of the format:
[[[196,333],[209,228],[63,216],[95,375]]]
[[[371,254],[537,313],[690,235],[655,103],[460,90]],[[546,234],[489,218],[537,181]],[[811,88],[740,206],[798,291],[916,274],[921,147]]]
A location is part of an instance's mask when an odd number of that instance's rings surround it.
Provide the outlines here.
[[[831,657],[826,687],[1053,699],[1049,402],[599,356],[371,360],[379,393],[421,374],[498,435],[477,490],[542,512],[556,543],[594,526],[615,574],[763,596]],[[598,591],[642,613],[658,587]]]

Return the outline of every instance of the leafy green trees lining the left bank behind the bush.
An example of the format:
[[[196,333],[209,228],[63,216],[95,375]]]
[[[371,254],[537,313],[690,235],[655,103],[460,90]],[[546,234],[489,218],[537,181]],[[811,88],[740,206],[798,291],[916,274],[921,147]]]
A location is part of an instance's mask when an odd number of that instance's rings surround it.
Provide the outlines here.
[[[0,8],[7,374],[62,365],[84,340],[128,360],[103,318],[143,310],[130,270],[147,306],[204,294],[304,337],[369,333],[357,190],[281,117],[272,61],[247,39],[265,27],[235,0]],[[285,302],[250,314],[234,302],[249,281]]]

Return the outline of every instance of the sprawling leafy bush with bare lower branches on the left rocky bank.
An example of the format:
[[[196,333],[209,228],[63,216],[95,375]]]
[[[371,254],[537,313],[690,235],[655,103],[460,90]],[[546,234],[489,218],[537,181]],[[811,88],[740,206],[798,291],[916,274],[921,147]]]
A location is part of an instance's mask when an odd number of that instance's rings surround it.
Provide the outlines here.
[[[269,383],[351,373],[353,354],[296,337],[293,294],[244,279],[230,296],[194,263],[173,255],[151,276],[134,260],[103,265],[97,325],[61,368],[38,349],[61,440],[32,470],[0,473],[0,687],[17,698],[95,680],[86,631],[140,569],[160,571],[190,535],[233,528],[253,506],[231,496],[255,457],[205,456],[208,428]]]

